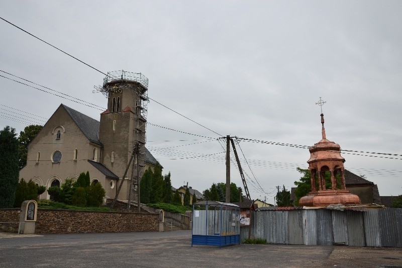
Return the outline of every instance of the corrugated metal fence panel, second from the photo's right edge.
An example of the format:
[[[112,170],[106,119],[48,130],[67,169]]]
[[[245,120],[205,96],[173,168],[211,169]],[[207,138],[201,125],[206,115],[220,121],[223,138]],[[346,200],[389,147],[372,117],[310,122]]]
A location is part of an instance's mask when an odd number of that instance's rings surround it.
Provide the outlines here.
[[[381,246],[380,227],[378,223],[378,210],[370,209],[363,213],[364,234],[367,246]]]

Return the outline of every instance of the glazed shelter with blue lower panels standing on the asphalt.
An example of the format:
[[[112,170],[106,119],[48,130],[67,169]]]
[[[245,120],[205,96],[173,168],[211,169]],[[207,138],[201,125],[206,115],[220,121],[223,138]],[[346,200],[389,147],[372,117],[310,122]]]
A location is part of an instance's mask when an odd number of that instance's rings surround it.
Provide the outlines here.
[[[192,245],[240,244],[240,207],[217,201],[199,201],[192,206]]]

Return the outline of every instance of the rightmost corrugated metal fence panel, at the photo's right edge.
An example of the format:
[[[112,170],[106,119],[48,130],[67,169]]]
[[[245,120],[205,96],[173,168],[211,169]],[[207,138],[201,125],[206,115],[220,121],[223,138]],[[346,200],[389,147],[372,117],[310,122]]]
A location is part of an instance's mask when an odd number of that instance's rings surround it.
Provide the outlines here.
[[[398,225],[396,222],[396,209],[381,209],[378,211],[378,220],[380,226],[381,245],[397,246]],[[399,228],[401,226],[399,225]]]

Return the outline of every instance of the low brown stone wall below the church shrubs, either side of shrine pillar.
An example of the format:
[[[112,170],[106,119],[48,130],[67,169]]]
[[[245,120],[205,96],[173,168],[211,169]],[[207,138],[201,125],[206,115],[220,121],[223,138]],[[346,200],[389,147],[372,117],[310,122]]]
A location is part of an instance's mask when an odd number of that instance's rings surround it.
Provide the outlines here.
[[[1,222],[18,222],[20,209],[0,210]],[[9,224],[18,231],[18,224]],[[159,230],[159,215],[104,211],[38,209],[35,233],[107,233]]]

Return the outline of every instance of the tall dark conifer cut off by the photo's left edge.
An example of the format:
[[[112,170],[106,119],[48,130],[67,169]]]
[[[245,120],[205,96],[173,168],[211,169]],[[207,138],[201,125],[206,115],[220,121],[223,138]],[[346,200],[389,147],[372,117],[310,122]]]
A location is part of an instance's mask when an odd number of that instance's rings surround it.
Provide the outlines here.
[[[10,126],[0,130],[0,208],[14,206],[20,169],[16,135]]]

